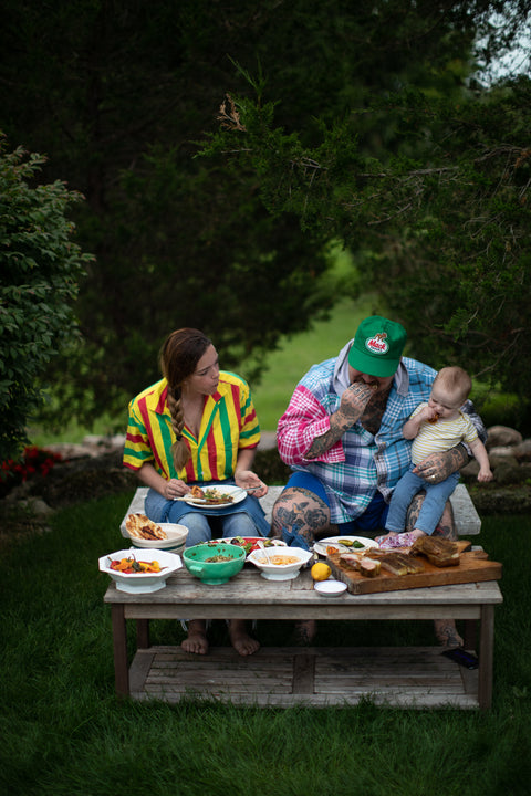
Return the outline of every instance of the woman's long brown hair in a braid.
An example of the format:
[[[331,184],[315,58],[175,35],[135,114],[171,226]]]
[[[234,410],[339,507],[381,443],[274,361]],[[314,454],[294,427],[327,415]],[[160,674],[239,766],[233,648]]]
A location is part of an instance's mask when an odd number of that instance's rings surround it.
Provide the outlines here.
[[[171,455],[177,472],[183,470],[190,458],[190,450],[183,437],[185,417],[180,402],[183,381],[191,376],[197,363],[211,341],[199,329],[181,328],[167,337],[160,349],[160,370],[168,381],[168,408],[176,440],[171,446]]]

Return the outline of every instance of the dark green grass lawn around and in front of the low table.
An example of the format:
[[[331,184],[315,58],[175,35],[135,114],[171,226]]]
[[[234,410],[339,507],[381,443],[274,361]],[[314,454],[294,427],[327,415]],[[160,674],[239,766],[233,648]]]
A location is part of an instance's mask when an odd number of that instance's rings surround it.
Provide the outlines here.
[[[498,796],[531,776],[531,519],[487,517],[480,543],[503,562],[488,713],[356,708],[169,706],[114,695],[108,584],[131,494],[58,512],[51,531],[2,555],[0,793],[11,796]],[[322,627],[325,626],[325,627]],[[429,622],[322,622],[317,640],[431,641]],[[131,631],[133,651],[134,628]],[[260,624],[262,643],[290,624]],[[154,622],[154,642],[178,642]]]

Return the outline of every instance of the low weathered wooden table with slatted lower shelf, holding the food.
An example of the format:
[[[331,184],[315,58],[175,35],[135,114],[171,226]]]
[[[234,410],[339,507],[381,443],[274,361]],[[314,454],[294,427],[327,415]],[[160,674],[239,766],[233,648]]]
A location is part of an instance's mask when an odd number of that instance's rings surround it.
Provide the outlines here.
[[[185,568],[159,591],[132,595],[113,583],[116,692],[134,699],[177,702],[192,695],[233,704],[271,706],[347,705],[369,696],[408,708],[454,705],[488,709],[492,698],[494,606],[498,583],[488,580],[382,594],[322,597],[308,569],[293,580],[267,580],[251,565],[227,584],[206,586]],[[150,619],[433,620],[465,621],[466,648],[476,647],[479,669],[469,671],[440,654],[440,647],[268,648],[250,657],[232,648],[208,654],[180,646],[150,646]],[[127,620],[135,620],[137,650],[129,668]]]

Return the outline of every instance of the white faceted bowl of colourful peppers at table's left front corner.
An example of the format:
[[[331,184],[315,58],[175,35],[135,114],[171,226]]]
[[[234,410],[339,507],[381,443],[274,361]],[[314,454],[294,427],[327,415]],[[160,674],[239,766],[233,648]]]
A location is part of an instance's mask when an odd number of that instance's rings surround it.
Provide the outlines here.
[[[136,561],[153,562],[158,561],[160,564],[160,572],[158,573],[121,573],[115,569],[111,569],[111,562],[121,558],[136,558]],[[173,575],[177,569],[180,569],[183,562],[180,556],[175,553],[168,553],[167,551],[154,549],[142,549],[142,552],[135,547],[128,549],[116,551],[110,553],[106,556],[98,558],[100,572],[107,573],[112,579],[116,583],[116,588],[119,591],[127,591],[128,594],[149,594],[150,591],[158,591],[166,586],[167,578]]]

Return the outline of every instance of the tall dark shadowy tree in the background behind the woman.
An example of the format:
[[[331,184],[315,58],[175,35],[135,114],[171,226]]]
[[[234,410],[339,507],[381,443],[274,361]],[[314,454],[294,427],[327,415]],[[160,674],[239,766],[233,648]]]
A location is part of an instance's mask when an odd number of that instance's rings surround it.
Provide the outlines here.
[[[80,285],[83,346],[48,370],[52,383],[62,374],[62,413],[86,422],[124,407],[157,377],[159,345],[179,325],[201,326],[223,365],[243,363],[257,377],[281,334],[308,327],[334,301],[320,276],[330,237],[344,237],[352,223],[347,201],[343,220],[333,222],[313,202],[325,169],[305,153],[320,149],[327,129],[337,136],[339,171],[350,168],[354,150],[385,163],[397,142],[404,147],[389,94],[408,85],[458,93],[478,30],[498,6],[6,0],[3,127],[46,151],[46,174],[86,196],[75,220],[82,247],[96,255]],[[197,157],[226,93],[249,100],[249,77],[263,134],[274,105],[275,125],[288,130],[284,140],[277,128],[282,147],[292,136],[287,171],[282,150],[268,160],[293,190],[282,212],[270,210],[287,196],[283,187],[251,159]],[[230,146],[248,139],[247,119],[244,126]],[[412,158],[421,143],[410,138]],[[299,199],[309,201],[302,211]],[[366,227],[352,229],[357,249],[373,245],[369,237],[362,243]]]

